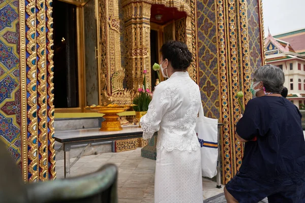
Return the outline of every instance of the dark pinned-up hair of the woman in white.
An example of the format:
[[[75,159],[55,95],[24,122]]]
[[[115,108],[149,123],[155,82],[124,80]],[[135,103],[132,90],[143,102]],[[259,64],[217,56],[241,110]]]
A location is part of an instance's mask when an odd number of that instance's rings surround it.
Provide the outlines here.
[[[169,41],[162,45],[161,54],[163,60],[167,58],[173,69],[186,71],[193,61],[193,55],[185,43]]]

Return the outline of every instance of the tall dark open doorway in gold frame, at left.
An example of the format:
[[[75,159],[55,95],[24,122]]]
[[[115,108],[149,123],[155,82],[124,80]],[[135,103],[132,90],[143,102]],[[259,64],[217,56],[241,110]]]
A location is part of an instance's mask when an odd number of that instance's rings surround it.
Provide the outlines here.
[[[53,0],[54,106],[79,107],[76,6]]]

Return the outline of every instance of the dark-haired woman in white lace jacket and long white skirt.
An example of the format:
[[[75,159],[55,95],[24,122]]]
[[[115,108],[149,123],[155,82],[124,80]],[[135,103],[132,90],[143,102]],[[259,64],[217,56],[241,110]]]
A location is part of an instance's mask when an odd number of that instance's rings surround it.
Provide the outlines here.
[[[171,41],[161,48],[160,67],[168,78],[155,89],[140,120],[143,138],[158,131],[155,202],[202,203],[200,144],[195,132],[201,103],[198,85],[187,72],[192,53]]]

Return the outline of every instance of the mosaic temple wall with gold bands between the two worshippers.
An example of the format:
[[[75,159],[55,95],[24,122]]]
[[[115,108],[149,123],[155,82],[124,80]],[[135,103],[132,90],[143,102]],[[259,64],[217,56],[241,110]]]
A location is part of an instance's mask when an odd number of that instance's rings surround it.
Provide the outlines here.
[[[241,113],[236,96],[251,99],[251,74],[264,61],[261,1],[198,0],[198,83],[204,113],[224,123],[221,131],[222,180],[239,170],[243,145],[235,137]]]

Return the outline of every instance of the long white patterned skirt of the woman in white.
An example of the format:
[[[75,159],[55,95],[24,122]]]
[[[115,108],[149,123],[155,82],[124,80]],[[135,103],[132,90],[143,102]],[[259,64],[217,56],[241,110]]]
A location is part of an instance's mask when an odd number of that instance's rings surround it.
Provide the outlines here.
[[[155,203],[202,203],[200,149],[157,149]]]

